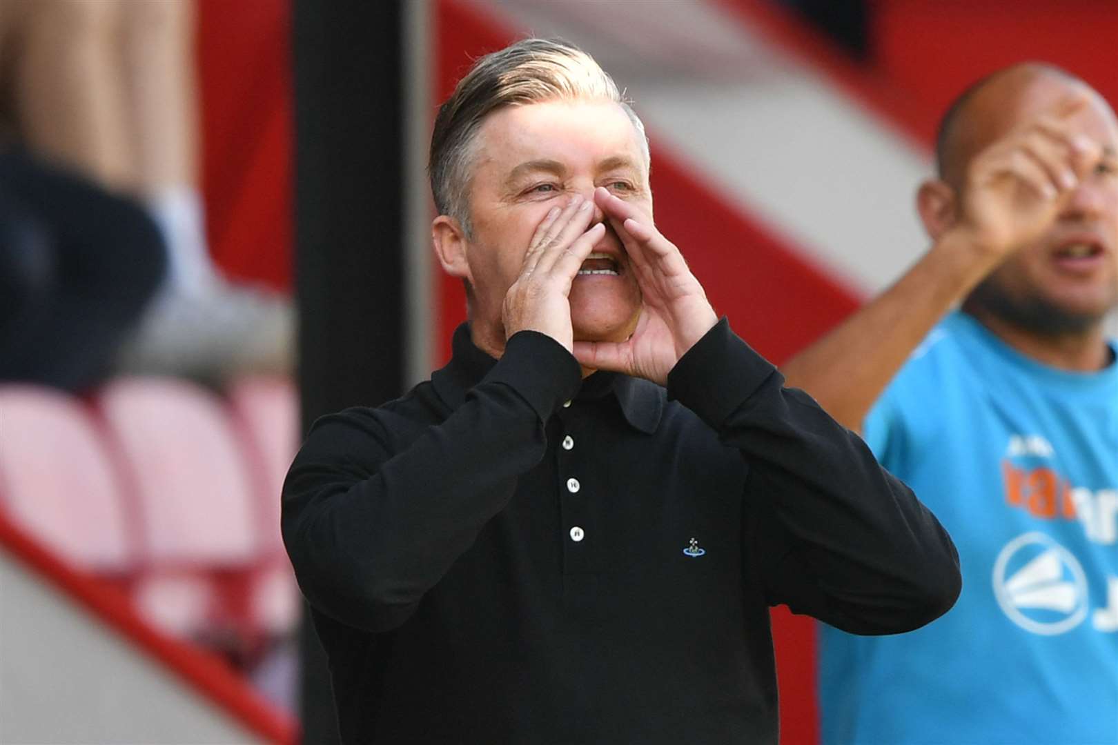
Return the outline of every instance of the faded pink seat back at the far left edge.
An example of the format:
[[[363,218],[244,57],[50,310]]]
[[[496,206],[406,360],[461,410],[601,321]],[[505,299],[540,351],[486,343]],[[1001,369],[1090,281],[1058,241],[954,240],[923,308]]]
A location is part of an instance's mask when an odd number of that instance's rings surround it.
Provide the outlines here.
[[[108,579],[135,569],[117,474],[89,412],[66,393],[0,386],[0,505],[76,569]]]

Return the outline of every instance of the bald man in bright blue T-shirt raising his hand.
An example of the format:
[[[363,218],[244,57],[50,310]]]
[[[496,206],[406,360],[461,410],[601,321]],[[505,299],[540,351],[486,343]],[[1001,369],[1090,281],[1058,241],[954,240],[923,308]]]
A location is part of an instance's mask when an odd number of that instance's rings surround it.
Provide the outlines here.
[[[913,633],[822,629],[824,739],[1116,743],[1118,122],[1023,64],[956,101],[937,161],[930,250],[783,367],[936,512],[964,574]]]

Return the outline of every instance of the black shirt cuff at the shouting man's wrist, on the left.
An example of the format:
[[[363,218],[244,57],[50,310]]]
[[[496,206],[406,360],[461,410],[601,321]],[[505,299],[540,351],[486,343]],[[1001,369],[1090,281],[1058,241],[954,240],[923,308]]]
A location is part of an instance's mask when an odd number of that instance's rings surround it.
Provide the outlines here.
[[[567,348],[547,334],[521,331],[504,345],[504,354],[480,384],[503,383],[519,393],[547,422],[578,392],[582,367]]]

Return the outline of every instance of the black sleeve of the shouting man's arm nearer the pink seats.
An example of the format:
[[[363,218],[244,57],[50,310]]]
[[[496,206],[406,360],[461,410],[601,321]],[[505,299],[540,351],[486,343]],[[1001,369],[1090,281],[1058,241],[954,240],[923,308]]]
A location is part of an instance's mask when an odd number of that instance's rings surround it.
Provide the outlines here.
[[[394,418],[391,405],[319,420],[283,497],[311,603],[369,631],[402,623],[543,457],[544,423],[579,380],[567,350],[521,332],[445,421]]]

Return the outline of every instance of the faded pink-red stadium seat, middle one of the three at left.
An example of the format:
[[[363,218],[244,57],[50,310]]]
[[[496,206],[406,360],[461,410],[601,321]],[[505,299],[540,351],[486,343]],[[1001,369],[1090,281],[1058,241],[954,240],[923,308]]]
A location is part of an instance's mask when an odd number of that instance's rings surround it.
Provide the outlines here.
[[[98,405],[136,497],[148,563],[135,591],[141,612],[219,646],[249,636],[237,604],[248,602],[262,546],[243,447],[221,400],[181,380],[124,379],[102,390]]]

